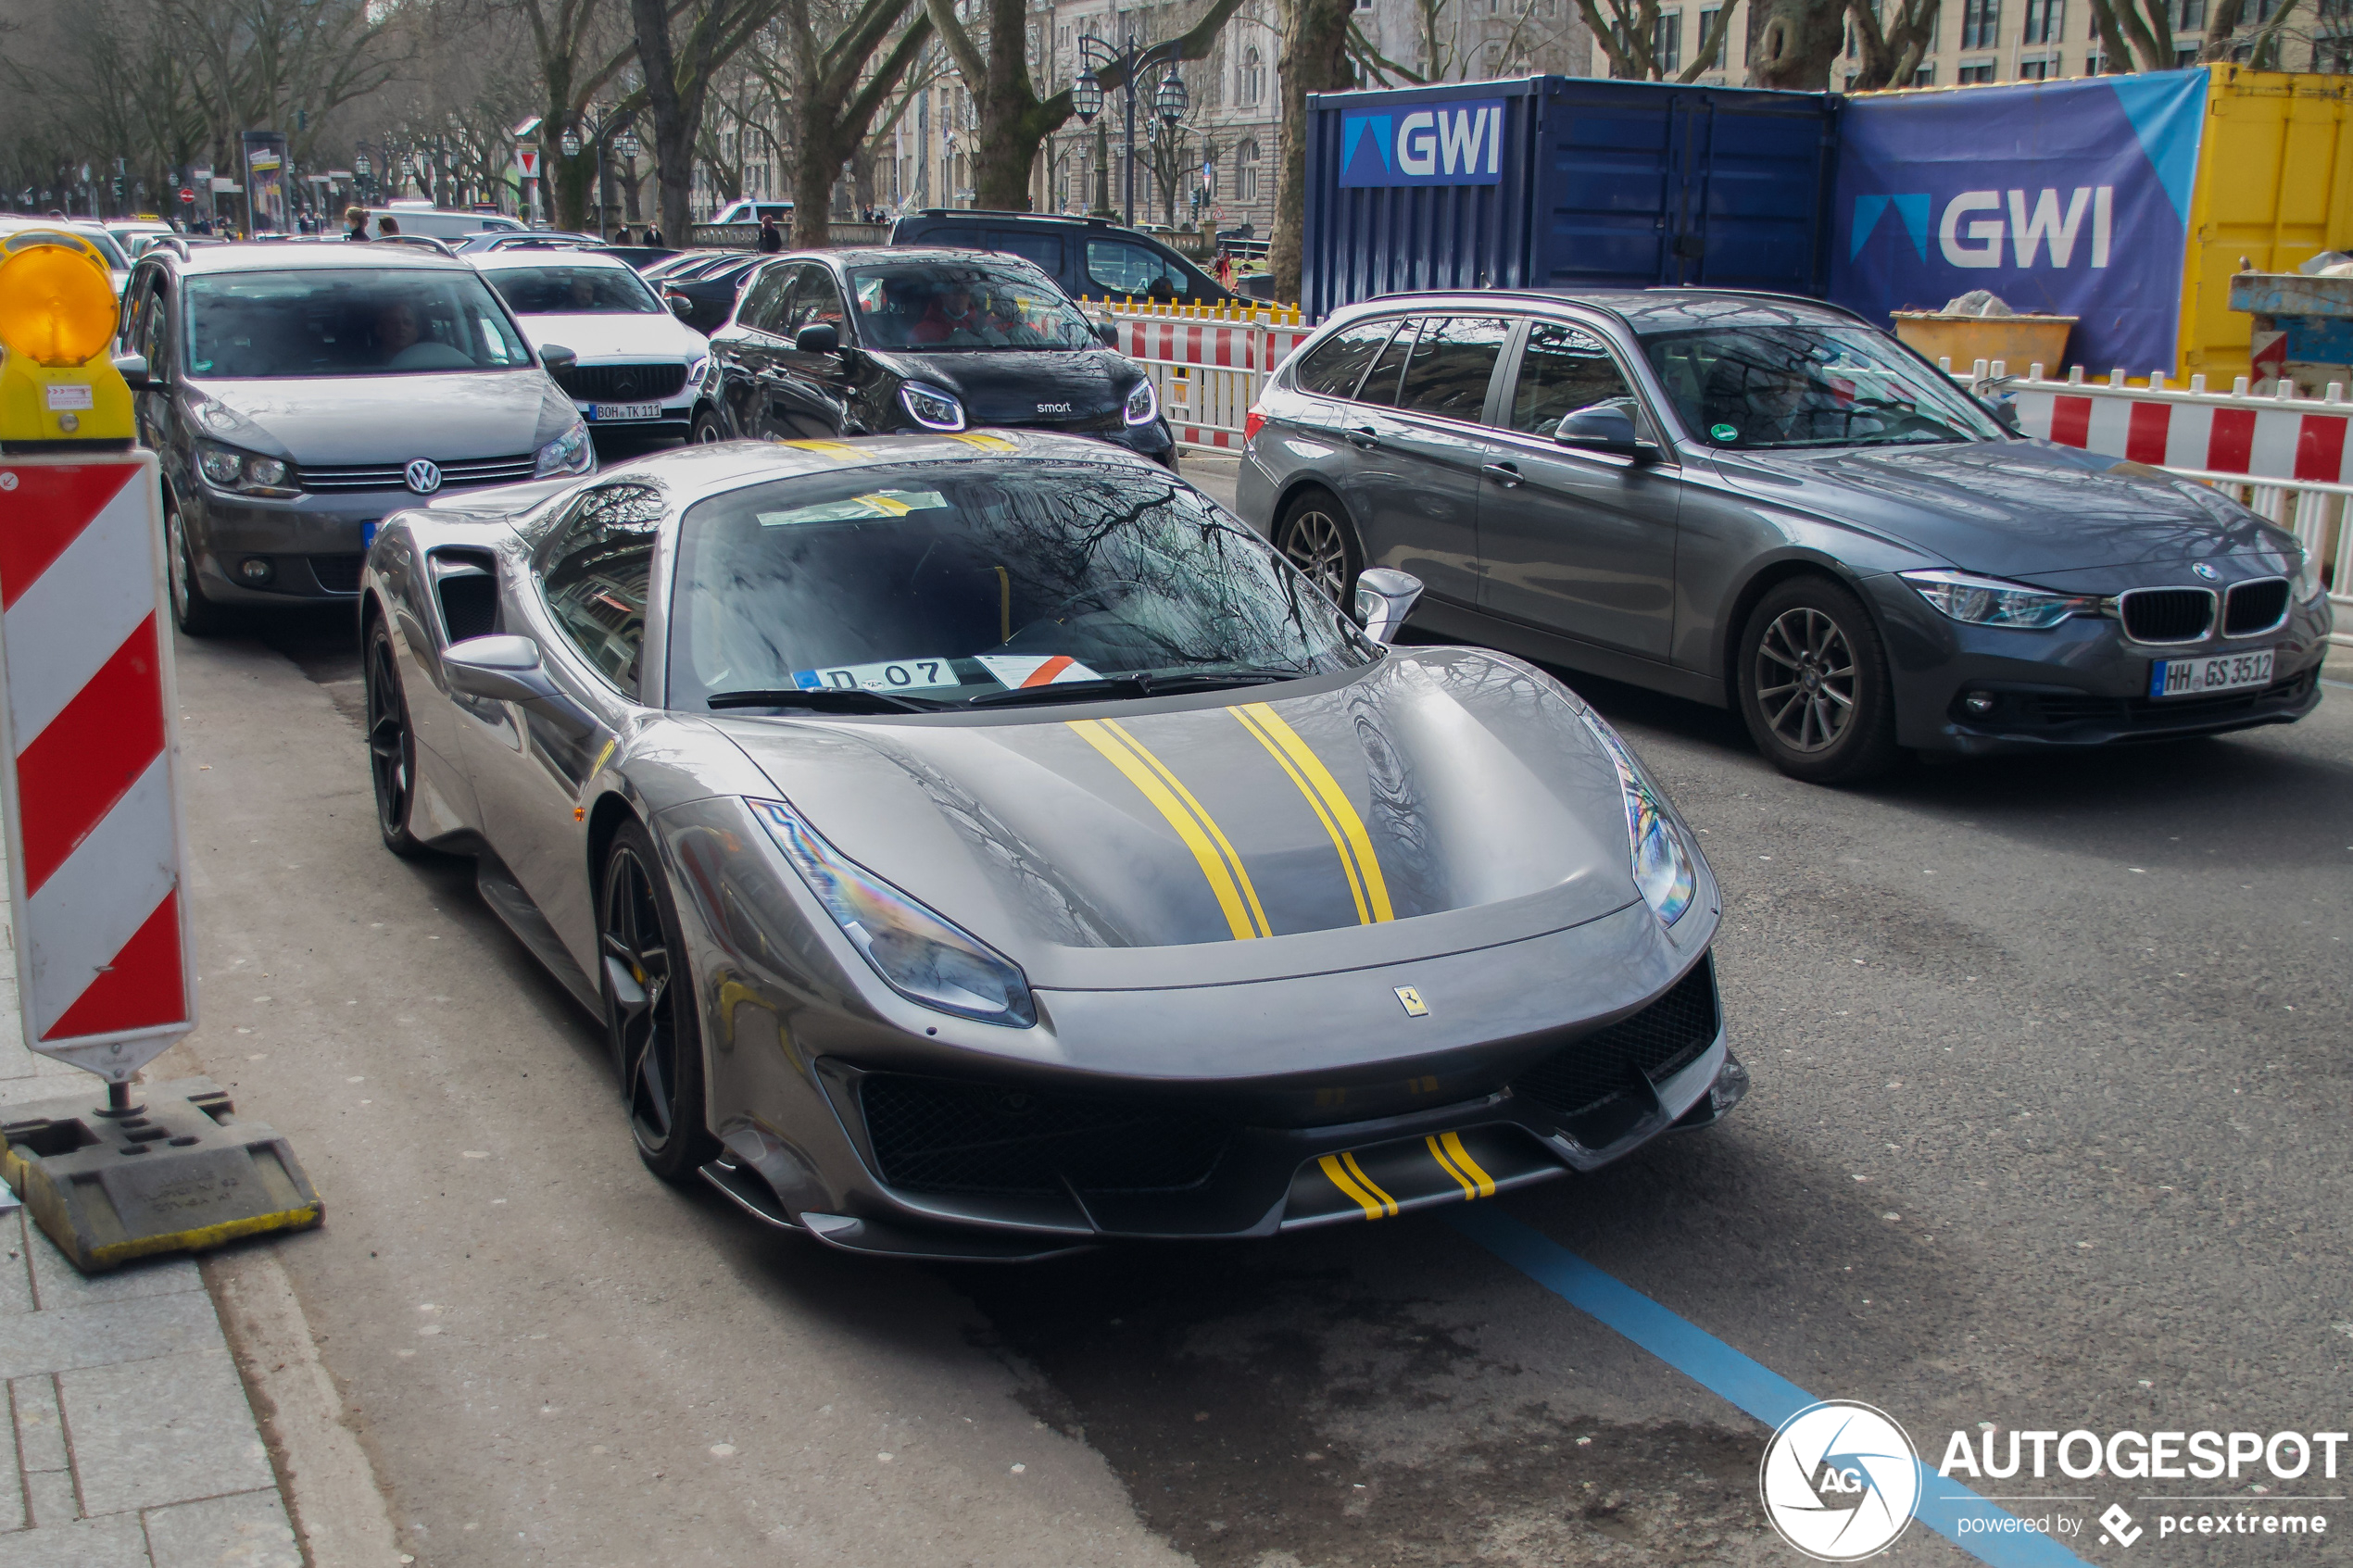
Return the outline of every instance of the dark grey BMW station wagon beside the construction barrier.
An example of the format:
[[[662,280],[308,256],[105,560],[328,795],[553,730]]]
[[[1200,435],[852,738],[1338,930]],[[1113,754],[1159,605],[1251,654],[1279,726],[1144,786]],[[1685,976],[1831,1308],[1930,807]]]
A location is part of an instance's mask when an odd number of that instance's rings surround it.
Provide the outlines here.
[[[1238,508],[1339,595],[1737,708],[1781,771],[2285,724],[2320,562],[2221,491],[2009,430],[1866,320],[1708,289],[1339,313],[1252,409]]]

